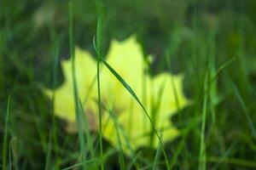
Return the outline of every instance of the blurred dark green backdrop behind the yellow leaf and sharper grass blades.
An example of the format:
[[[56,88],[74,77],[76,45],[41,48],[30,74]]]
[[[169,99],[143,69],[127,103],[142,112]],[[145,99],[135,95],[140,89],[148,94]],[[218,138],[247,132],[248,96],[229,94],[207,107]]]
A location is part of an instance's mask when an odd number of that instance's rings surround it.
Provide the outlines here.
[[[10,95],[8,159],[10,156],[14,161],[13,167],[45,167],[53,123],[51,104],[40,87],[55,88],[63,81],[60,61],[69,56],[68,2],[0,1],[0,150],[3,150]],[[217,75],[207,102],[207,169],[255,168],[256,1],[108,0],[102,3],[104,53],[112,39],[124,40],[135,34],[144,53],[154,54],[152,75],[167,70],[166,54],[171,57],[172,73],[184,74],[185,94],[195,103],[172,117],[177,127],[187,127],[191,120],[201,117],[205,76],[207,72],[211,77]],[[73,0],[73,15],[75,44],[96,54],[95,1]],[[56,37],[61,38],[59,78],[53,84]],[[64,132],[65,122],[56,121],[58,158],[52,156],[52,168],[56,164],[68,167],[77,161],[78,139],[75,134]],[[198,122],[188,135],[167,144],[171,158],[182,144],[175,167],[198,167],[200,133]],[[146,161],[139,163],[147,167],[146,162],[154,159],[154,150],[144,149],[143,155]],[[109,169],[119,166],[115,155],[109,156],[107,162]]]

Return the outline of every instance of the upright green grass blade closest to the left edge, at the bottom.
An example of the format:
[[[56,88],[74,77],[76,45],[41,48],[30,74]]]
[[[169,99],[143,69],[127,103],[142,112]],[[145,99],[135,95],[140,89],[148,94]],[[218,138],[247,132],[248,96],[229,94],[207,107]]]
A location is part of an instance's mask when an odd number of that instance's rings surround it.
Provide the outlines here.
[[[9,131],[9,111],[10,111],[10,96],[8,97],[7,109],[5,114],[5,123],[4,123],[4,133],[3,133],[3,151],[2,151],[2,168],[3,170],[7,169],[6,159],[7,159],[7,139]]]

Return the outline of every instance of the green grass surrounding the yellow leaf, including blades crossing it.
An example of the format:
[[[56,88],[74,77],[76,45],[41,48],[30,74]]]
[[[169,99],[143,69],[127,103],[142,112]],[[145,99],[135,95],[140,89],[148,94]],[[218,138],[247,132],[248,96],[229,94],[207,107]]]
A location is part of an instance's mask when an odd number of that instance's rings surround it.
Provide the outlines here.
[[[0,3],[0,168],[256,168],[255,7],[253,0],[233,3],[3,0]],[[183,90],[192,104],[180,109],[174,96],[178,111],[170,119],[180,129],[180,135],[165,144],[154,127],[154,115],[162,101],[155,103],[153,112],[148,112],[149,105],[143,105],[148,92],[144,91],[143,99],[139,99],[137,91],[105,59],[113,38],[124,40],[131,34],[137,34],[145,65],[149,65],[147,72],[152,77],[161,71],[184,75]],[[76,88],[76,45],[96,56],[98,132],[89,130],[87,108],[81,104],[83,99],[79,99]],[[154,54],[151,65],[147,54]],[[60,62],[68,56],[73,60],[71,98],[76,104],[78,125],[75,134],[67,133],[67,122],[54,115],[55,93],[49,100],[41,90],[61,85]],[[151,122],[149,135],[153,138],[156,134],[160,141],[156,150],[149,147],[132,150],[114,108],[108,106],[103,113],[104,84],[99,74],[102,67],[142,107],[142,114]],[[177,95],[176,90],[173,86],[173,94]],[[118,141],[116,147],[102,138],[106,127],[102,124],[102,114],[109,114],[118,129],[114,136]],[[131,156],[122,150],[121,139],[130,146]]]

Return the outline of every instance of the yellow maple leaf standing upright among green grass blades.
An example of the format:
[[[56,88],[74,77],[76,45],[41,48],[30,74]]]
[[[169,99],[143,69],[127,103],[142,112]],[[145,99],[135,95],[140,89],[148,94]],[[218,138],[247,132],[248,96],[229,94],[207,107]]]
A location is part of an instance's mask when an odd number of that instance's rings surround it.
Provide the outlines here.
[[[189,104],[183,95],[183,76],[173,76],[165,72],[150,77],[145,73],[143,52],[134,36],[123,42],[113,40],[106,59],[143,101],[154,121],[154,127],[161,134],[162,141],[177,137],[178,130],[172,126],[170,117],[178,107],[181,109]],[[75,48],[75,66],[79,98],[83,101],[90,129],[97,130],[96,61],[89,52]],[[62,61],[61,67],[65,82],[60,88],[55,89],[54,112],[56,116],[73,125],[75,104],[71,59]],[[102,103],[105,105],[102,113],[103,138],[113,146],[119,147],[121,144],[127,154],[129,150],[136,150],[142,146],[151,145],[156,148],[159,140],[156,134],[152,133],[151,122],[137,101],[107,67],[102,66],[100,79]],[[50,97],[53,91],[45,89],[44,93]]]

